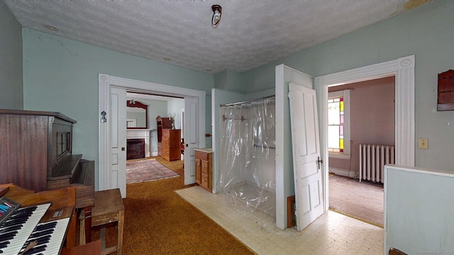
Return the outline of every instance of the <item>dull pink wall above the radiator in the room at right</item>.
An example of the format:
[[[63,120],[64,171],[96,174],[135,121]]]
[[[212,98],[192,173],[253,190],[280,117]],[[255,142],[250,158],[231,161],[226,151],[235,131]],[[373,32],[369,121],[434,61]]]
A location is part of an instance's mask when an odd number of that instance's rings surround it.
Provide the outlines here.
[[[351,159],[329,159],[329,166],[359,171],[359,145],[394,145],[394,77],[333,86],[329,92],[350,89]],[[345,144],[347,141],[345,141]]]

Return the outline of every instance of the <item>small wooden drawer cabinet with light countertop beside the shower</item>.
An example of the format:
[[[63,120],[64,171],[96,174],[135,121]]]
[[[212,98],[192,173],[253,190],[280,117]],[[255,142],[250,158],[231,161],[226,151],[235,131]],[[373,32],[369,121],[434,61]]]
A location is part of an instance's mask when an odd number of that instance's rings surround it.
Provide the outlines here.
[[[196,183],[209,192],[213,191],[211,149],[194,149],[196,152]]]

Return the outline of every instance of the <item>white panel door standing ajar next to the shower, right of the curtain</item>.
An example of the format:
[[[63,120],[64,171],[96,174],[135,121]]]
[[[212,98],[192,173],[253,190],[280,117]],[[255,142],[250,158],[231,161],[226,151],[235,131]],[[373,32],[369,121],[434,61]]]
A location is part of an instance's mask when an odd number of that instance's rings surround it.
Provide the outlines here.
[[[319,118],[316,92],[299,84],[289,84],[292,126],[295,215],[301,231],[323,214]]]

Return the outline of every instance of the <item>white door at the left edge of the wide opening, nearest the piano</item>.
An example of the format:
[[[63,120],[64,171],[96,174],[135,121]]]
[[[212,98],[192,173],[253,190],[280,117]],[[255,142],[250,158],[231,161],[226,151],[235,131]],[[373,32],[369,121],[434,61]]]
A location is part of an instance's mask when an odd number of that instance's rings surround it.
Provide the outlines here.
[[[110,187],[120,188],[126,198],[126,89],[111,87]],[[108,119],[109,120],[109,119]]]

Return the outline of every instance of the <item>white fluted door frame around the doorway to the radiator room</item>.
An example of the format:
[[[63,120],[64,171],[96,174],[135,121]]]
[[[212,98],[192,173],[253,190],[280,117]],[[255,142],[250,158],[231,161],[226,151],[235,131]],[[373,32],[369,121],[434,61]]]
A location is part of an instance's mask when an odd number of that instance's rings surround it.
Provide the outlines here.
[[[372,64],[344,72],[328,74],[315,79],[317,100],[319,101],[320,152],[323,159],[323,190],[325,210],[329,208],[328,199],[328,86],[350,84],[353,82],[395,77],[395,145],[396,164],[414,166],[414,66],[415,56],[400,57],[397,60]]]

